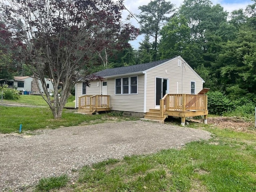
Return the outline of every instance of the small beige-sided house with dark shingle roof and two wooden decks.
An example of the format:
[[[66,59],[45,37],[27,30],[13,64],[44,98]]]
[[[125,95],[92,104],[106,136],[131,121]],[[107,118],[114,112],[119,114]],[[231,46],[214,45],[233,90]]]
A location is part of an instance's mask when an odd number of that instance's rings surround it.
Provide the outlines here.
[[[144,116],[159,121],[168,115],[180,116],[182,124],[187,115],[204,115],[206,122],[207,96],[196,95],[203,89],[204,80],[181,56],[109,68],[95,75],[104,80],[93,80],[89,87],[83,81],[76,84],[78,112],[114,110],[127,116]],[[173,111],[167,114],[166,110],[170,109]],[[190,113],[183,114],[187,110]]]

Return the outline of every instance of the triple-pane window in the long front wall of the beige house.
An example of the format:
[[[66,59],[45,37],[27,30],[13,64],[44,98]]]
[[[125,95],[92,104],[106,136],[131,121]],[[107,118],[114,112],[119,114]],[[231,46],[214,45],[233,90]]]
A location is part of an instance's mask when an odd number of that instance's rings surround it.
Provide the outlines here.
[[[137,94],[138,77],[116,79],[116,94]]]

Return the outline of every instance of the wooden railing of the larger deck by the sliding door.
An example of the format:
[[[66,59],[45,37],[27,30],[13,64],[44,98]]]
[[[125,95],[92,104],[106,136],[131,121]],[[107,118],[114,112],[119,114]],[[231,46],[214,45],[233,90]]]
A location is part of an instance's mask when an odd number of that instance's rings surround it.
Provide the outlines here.
[[[160,99],[160,115],[162,117],[166,110],[207,110],[207,95],[166,94]]]

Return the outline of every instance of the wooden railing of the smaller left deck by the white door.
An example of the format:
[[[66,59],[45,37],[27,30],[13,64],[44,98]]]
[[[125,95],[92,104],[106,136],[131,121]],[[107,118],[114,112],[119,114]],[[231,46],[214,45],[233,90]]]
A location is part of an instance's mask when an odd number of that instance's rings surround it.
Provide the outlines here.
[[[78,98],[78,109],[109,108],[109,95],[84,95]]]

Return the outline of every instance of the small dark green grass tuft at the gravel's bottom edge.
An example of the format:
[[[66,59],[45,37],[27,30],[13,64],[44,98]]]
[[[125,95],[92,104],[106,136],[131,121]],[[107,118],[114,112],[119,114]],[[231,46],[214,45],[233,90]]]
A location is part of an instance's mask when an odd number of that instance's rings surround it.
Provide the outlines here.
[[[68,183],[68,176],[66,174],[58,177],[48,177],[39,180],[36,185],[36,191],[38,192],[49,192],[66,186]]]

